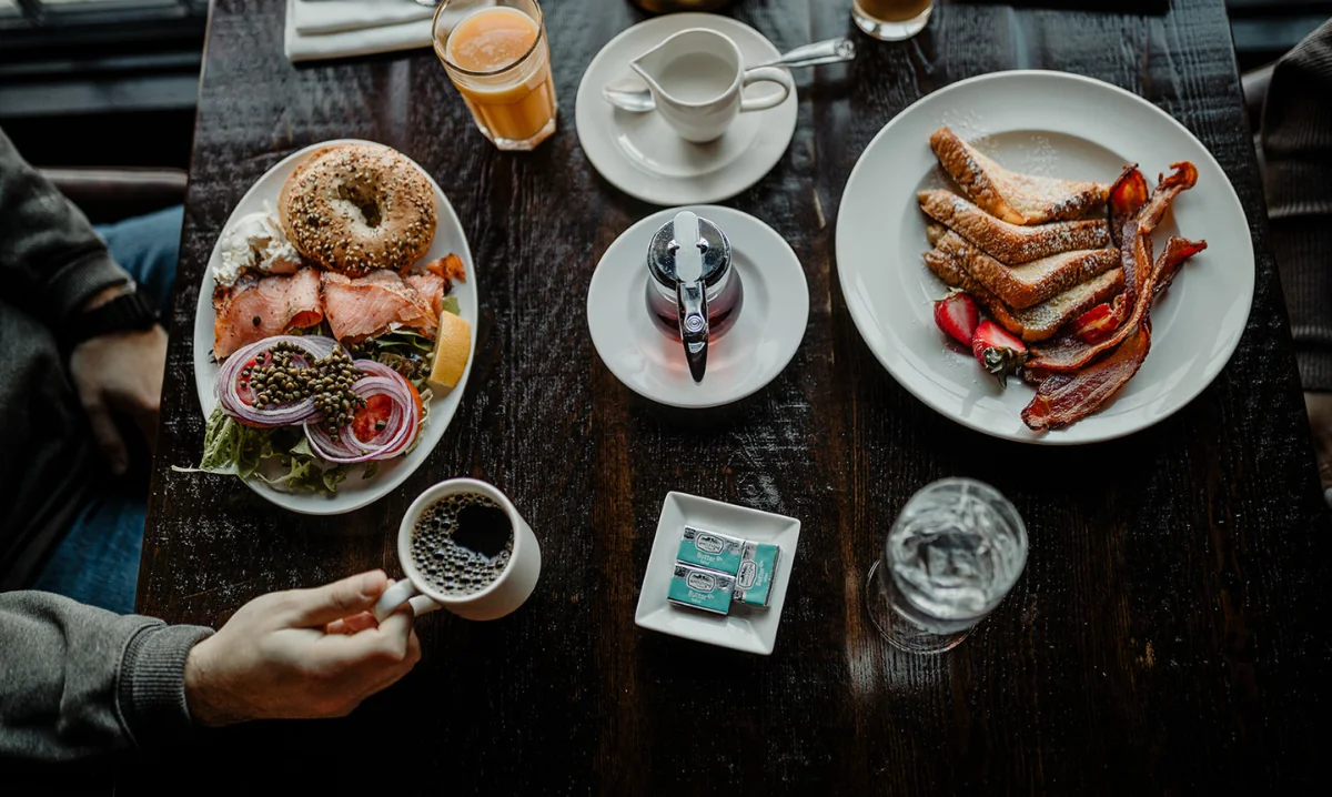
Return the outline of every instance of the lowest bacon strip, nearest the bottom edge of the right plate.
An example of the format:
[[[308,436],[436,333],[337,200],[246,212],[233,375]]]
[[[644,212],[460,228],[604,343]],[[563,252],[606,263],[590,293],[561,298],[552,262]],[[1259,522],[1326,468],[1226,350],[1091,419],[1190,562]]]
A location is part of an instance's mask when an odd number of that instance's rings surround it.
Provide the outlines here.
[[[1040,383],[1022,421],[1035,430],[1059,429],[1100,409],[1142,368],[1152,345],[1151,321],[1115,353],[1079,373],[1056,373]]]

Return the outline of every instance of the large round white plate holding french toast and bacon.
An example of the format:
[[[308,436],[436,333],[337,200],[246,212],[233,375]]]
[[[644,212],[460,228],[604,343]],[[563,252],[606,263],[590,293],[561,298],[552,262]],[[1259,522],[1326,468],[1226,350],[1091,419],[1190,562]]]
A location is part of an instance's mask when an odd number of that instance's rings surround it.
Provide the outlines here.
[[[1022,409],[1034,388],[999,384],[970,352],[946,345],[934,300],[947,287],[930,249],[916,191],[947,185],[928,137],[948,125],[1019,172],[1111,183],[1136,163],[1155,187],[1169,164],[1197,167],[1154,236],[1205,239],[1152,307],[1152,345],[1138,375],[1102,409],[1052,432],[1032,432]],[[1244,332],[1253,299],[1253,245],[1239,197],[1216,159],[1163,111],[1114,85],[1062,72],[1019,71],[955,83],[899,113],[851,171],[836,223],[836,271],[860,336],[916,398],[986,434],[1070,445],[1131,434],[1166,418],[1211,384]]]

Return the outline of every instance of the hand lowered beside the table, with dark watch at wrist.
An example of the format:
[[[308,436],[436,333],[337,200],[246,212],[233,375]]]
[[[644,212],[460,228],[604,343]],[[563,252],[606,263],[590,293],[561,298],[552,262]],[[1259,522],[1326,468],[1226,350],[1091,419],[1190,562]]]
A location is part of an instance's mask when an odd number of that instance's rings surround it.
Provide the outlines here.
[[[84,309],[109,301],[120,288],[113,291],[99,293]],[[133,420],[152,450],[165,367],[166,331],[157,325],[144,332],[116,332],[85,340],[69,356],[69,376],[88,413],[93,440],[116,476],[129,466],[129,454],[115,416],[121,413]]]

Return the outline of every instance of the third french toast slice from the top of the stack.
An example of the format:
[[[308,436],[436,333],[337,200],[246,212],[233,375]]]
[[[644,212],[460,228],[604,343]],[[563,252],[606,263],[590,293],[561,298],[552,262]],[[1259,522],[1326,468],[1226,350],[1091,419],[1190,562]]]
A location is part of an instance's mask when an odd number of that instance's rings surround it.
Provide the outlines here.
[[[1040,304],[1119,265],[1118,249],[1082,249],[1004,265],[955,231],[935,231],[928,236],[940,252],[959,261],[972,279],[1014,309]]]

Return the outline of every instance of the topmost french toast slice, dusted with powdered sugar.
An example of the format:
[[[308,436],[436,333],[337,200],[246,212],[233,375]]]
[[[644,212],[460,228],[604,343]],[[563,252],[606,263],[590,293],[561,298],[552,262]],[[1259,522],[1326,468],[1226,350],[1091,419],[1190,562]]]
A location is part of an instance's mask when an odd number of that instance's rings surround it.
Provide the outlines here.
[[[1110,195],[1106,183],[1011,172],[946,127],[930,133],[930,148],[971,201],[1012,224],[1078,219]]]

